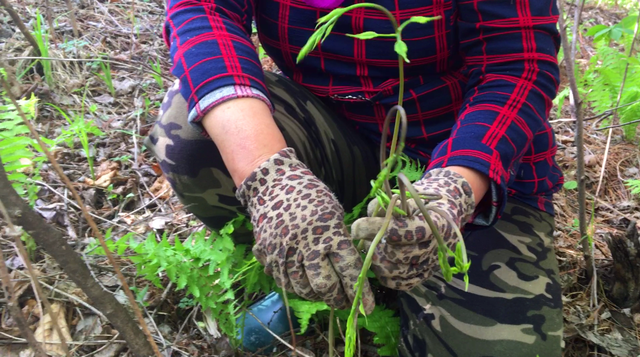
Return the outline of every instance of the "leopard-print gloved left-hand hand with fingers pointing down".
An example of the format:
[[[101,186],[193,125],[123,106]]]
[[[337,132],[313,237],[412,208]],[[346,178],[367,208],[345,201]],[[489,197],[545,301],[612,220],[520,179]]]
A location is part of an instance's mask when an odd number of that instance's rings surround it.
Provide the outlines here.
[[[279,287],[338,309],[351,307],[363,263],[344,210],[292,148],[255,169],[236,197],[251,216],[253,254]],[[375,302],[367,281],[362,297],[368,314]]]

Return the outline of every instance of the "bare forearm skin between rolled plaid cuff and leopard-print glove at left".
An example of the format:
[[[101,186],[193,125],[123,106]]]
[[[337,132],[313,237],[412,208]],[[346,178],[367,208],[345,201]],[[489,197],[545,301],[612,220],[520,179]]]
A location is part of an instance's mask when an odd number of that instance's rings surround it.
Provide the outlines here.
[[[202,119],[236,186],[287,144],[269,107],[260,99],[237,98],[214,107]]]

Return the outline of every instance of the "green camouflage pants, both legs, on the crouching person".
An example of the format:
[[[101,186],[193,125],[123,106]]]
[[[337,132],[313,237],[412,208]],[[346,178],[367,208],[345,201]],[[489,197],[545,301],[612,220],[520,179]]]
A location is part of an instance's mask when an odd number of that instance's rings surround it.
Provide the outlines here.
[[[290,80],[266,73],[266,82],[287,144],[349,210],[379,171],[377,144]],[[215,144],[187,123],[177,82],[145,145],[181,202],[207,226],[221,228],[243,213]],[[562,302],[553,225],[550,215],[510,199],[497,225],[467,233],[468,291],[461,280],[434,276],[400,294],[400,354],[559,357]],[[250,243],[250,232],[240,232],[238,240]]]

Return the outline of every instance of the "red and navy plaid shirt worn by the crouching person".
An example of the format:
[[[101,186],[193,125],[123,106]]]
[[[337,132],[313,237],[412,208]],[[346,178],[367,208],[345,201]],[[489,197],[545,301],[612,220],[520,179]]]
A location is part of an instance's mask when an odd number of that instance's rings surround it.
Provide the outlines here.
[[[348,6],[360,0],[345,0]],[[466,166],[492,181],[492,224],[507,195],[553,213],[563,182],[548,122],[559,84],[555,0],[373,0],[400,22],[441,16],[403,31],[408,46],[404,108],[406,152],[428,169]],[[397,103],[393,38],[384,14],[357,9],[301,63],[296,57],[328,10],[302,0],[168,0],[165,41],[197,123],[214,105],[242,96],[269,104],[262,67],[250,40],[260,41],[285,75],[328,99],[364,135],[379,140],[385,114]]]

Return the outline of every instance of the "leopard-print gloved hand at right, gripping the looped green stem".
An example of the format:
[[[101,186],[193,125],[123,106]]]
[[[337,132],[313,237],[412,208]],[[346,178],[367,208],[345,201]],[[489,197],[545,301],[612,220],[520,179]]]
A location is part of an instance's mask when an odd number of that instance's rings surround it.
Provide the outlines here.
[[[462,227],[473,215],[475,200],[469,183],[457,172],[434,169],[427,172],[413,187],[420,195],[440,195],[441,198],[425,201],[425,207],[436,207]],[[351,226],[353,239],[370,241],[382,227],[385,210],[376,212],[377,200],[368,206],[368,217],[360,218]],[[386,235],[377,245],[371,270],[380,283],[395,290],[411,290],[433,275],[439,268],[438,241],[432,235],[424,216],[413,199],[407,201],[411,216],[394,216]],[[409,213],[409,212],[407,212]],[[442,239],[455,250],[457,236],[452,224],[438,213],[429,211]],[[374,216],[375,215],[375,216]]]

